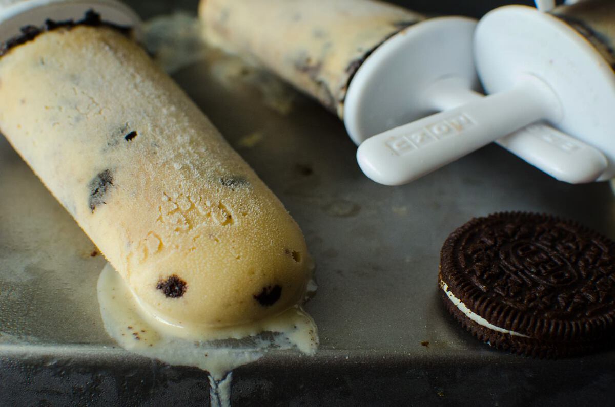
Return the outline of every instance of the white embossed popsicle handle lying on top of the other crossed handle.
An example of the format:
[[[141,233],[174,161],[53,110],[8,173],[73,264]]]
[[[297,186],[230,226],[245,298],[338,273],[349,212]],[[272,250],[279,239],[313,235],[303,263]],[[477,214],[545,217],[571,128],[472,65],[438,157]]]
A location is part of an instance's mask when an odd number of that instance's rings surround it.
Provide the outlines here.
[[[364,141],[357,160],[385,185],[416,180],[492,141],[542,119],[557,119],[557,98],[538,79],[526,79],[450,111],[392,128]]]

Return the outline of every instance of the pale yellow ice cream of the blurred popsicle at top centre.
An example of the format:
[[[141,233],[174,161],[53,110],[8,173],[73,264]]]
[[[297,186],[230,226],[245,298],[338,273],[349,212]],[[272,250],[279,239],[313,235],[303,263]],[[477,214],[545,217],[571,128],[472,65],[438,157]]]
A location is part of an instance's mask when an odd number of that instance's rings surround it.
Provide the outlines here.
[[[201,0],[207,41],[247,55],[343,116],[349,81],[420,14],[373,0]]]

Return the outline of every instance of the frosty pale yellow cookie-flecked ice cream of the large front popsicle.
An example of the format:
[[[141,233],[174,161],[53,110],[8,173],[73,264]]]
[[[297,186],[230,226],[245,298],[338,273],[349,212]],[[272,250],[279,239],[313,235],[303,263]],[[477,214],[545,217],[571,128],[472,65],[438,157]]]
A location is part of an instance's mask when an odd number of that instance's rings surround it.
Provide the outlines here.
[[[0,132],[157,318],[240,325],[303,299],[295,221],[119,31],[58,28],[10,49]]]

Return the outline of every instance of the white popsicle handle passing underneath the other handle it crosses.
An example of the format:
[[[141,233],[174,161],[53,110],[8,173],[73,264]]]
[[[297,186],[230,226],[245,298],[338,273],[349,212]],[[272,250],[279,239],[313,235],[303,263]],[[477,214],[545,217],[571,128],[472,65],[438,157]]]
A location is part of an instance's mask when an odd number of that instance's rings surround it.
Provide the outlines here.
[[[427,108],[443,111],[483,97],[463,79],[448,77],[432,85],[424,98]],[[593,182],[608,167],[601,151],[544,123],[522,128],[495,142],[556,180],[571,184]]]

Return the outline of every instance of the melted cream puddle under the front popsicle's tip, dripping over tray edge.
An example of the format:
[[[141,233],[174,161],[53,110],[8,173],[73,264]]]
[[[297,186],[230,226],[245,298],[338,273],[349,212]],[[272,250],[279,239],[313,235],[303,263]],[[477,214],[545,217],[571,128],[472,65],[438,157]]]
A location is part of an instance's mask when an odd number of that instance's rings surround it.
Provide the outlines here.
[[[230,405],[232,369],[258,360],[269,349],[296,347],[313,355],[319,343],[314,320],[300,306],[250,325],[178,327],[149,315],[109,263],[100,274],[97,292],[111,338],[135,354],[207,371],[212,405]]]

